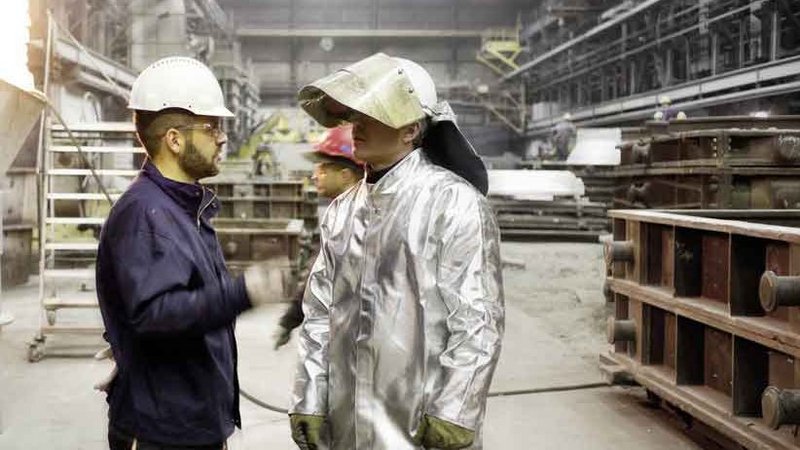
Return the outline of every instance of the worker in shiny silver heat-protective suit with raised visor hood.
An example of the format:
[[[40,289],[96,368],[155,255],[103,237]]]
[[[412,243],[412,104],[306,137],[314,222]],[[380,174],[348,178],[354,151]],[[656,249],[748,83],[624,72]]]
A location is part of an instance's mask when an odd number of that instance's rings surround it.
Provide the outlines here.
[[[304,87],[367,175],[321,223],[290,410],[301,449],[480,449],[504,327],[487,174],[430,75],[378,53]]]

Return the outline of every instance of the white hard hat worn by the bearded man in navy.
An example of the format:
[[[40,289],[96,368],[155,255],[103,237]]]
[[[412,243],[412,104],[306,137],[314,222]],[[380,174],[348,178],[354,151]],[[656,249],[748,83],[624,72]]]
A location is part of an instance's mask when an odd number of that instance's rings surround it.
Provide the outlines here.
[[[170,56],[139,74],[131,89],[128,108],[161,111],[181,108],[198,116],[233,117],[225,107],[219,81],[196,59]]]

